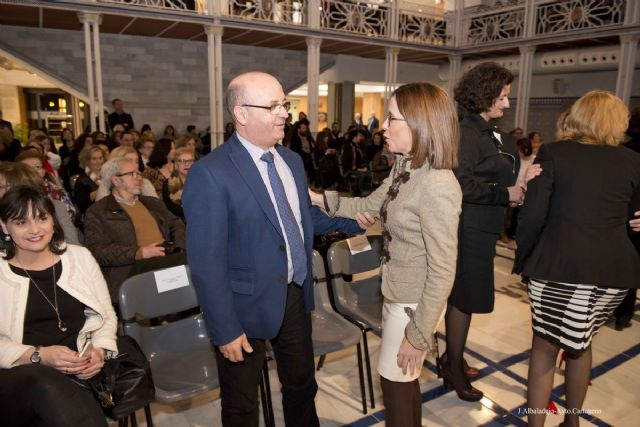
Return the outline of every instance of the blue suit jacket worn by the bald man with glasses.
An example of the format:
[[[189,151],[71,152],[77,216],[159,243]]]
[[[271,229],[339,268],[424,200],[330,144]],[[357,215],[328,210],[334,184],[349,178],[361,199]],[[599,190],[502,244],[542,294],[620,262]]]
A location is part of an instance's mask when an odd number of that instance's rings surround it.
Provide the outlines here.
[[[361,233],[355,221],[329,218],[311,207],[299,155],[276,145],[293,174],[307,252],[305,306],[313,310],[313,235]],[[287,300],[287,252],[275,208],[249,152],[234,134],[189,170],[182,206],[187,257],[209,336],[227,344],[277,335]]]

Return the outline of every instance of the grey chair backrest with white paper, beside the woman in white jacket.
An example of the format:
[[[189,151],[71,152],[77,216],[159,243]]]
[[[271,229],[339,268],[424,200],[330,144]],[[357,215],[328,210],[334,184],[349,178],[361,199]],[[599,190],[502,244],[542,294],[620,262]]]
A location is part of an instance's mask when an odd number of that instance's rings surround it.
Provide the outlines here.
[[[184,268],[187,282],[171,290],[161,290],[156,281],[156,273],[169,269],[149,271],[124,281],[119,293],[120,315],[123,321],[129,321],[135,316],[151,319],[198,306],[189,267],[184,265],[172,268]]]

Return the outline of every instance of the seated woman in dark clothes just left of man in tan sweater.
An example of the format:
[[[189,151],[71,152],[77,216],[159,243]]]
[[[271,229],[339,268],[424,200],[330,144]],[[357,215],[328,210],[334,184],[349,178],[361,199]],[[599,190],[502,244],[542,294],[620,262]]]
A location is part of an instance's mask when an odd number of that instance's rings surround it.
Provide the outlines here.
[[[73,197],[82,215],[96,201],[100,169],[106,161],[107,153],[99,145],[89,145],[80,153],[82,170],[73,185]]]

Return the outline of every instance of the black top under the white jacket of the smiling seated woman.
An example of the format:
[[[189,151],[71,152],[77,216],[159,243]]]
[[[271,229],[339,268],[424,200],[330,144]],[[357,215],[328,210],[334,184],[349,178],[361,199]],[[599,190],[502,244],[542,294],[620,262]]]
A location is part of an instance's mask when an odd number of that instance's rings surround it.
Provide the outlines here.
[[[28,277],[22,268],[9,265],[15,274]],[[29,270],[29,275],[38,284],[38,288],[55,305],[53,295],[53,275],[55,268],[56,282],[62,275],[62,261],[42,271]],[[57,286],[57,285],[56,285]],[[84,326],[85,305],[69,295],[60,286],[57,286],[58,311],[60,319],[67,327],[66,332],[58,328],[58,317],[49,303],[42,297],[33,281],[29,281],[29,296],[27,297],[27,309],[24,315],[24,334],[22,343],[26,345],[64,345],[71,349],[76,348],[76,339],[80,329]]]

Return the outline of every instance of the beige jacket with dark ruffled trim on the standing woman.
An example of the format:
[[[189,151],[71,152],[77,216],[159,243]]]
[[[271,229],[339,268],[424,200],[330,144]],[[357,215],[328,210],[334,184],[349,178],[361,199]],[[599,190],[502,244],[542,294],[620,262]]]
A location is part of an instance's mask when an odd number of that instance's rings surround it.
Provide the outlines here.
[[[390,176],[366,198],[326,192],[329,215],[353,218],[356,212],[379,213],[398,164],[396,160]],[[462,191],[451,170],[426,164],[411,169],[409,161],[407,171],[409,181],[387,207],[391,258],[382,266],[382,294],[390,302],[418,304],[405,336],[414,347],[427,351],[433,350],[431,337],[456,275]]]

